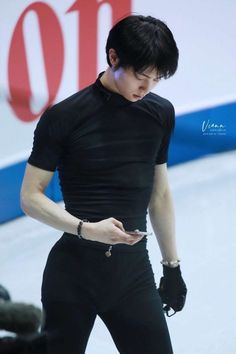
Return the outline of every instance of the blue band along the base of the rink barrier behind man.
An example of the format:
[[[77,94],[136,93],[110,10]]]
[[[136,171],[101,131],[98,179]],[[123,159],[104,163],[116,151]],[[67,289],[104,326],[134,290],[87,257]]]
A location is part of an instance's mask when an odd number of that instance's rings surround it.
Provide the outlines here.
[[[236,102],[178,115],[168,166],[234,149]],[[19,194],[25,165],[26,161],[21,161],[0,169],[0,224],[23,215]],[[46,194],[56,202],[62,200],[57,172]]]

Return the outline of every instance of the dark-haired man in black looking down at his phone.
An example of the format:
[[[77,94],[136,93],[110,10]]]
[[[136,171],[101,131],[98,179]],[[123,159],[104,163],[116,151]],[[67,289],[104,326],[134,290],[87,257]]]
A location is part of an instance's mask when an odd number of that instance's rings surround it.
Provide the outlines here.
[[[150,93],[174,74],[178,49],[153,17],[110,31],[109,67],[41,117],[21,199],[30,216],[64,232],[43,275],[50,354],[82,354],[96,315],[122,354],[171,354],[146,249],[146,211],[163,257],[160,294],[181,310],[186,287],[174,235],[167,152],[174,109]],[[65,210],[44,194],[59,170]]]

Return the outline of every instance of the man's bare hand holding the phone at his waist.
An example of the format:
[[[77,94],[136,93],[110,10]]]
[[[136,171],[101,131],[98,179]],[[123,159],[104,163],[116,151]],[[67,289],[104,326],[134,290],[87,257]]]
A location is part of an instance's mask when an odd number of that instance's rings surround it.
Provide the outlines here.
[[[108,218],[98,222],[84,222],[81,230],[82,237],[90,241],[98,241],[109,245],[126,243],[134,245],[143,238],[141,232],[126,233],[122,222],[115,218]]]

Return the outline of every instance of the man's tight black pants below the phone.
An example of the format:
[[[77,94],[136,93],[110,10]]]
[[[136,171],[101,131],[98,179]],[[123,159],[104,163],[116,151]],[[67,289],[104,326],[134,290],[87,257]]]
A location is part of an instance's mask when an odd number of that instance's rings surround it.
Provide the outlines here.
[[[115,245],[111,257],[107,249],[69,234],[52,248],[42,285],[48,354],[85,353],[97,315],[121,354],[172,354],[146,242]]]

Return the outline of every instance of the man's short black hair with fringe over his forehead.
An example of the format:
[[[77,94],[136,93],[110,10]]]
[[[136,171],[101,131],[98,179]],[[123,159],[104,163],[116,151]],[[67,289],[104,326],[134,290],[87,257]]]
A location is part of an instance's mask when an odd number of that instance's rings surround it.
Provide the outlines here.
[[[167,79],[178,66],[179,51],[172,32],[152,16],[131,15],[114,25],[106,43],[109,66],[110,48],[118,55],[119,67],[131,67],[135,72],[152,68]]]

